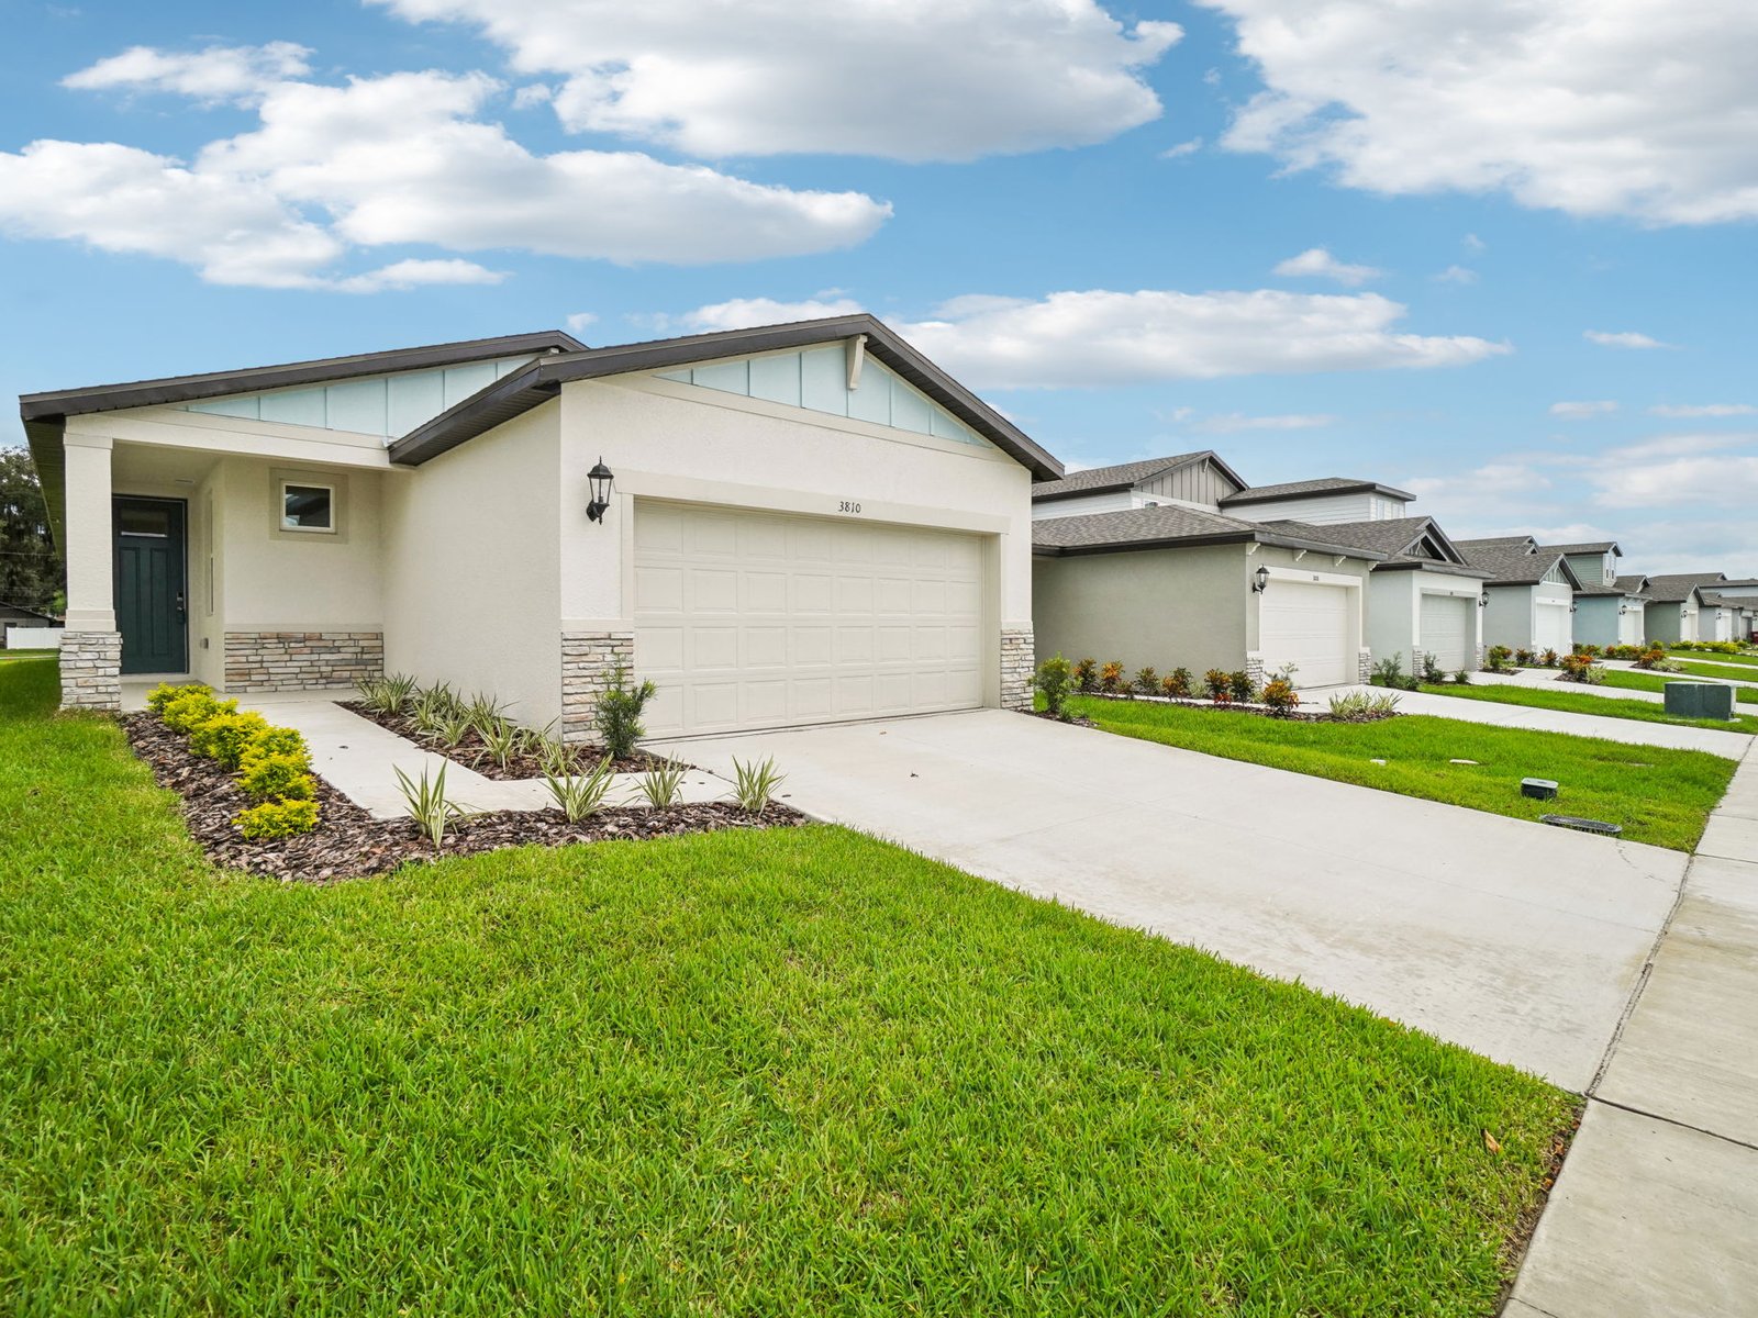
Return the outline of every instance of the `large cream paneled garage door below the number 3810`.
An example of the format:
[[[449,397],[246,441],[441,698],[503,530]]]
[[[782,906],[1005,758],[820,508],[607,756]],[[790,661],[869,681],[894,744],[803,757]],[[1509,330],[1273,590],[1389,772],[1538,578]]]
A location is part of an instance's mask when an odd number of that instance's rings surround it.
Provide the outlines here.
[[[983,703],[976,536],[635,504],[635,668],[649,735]]]

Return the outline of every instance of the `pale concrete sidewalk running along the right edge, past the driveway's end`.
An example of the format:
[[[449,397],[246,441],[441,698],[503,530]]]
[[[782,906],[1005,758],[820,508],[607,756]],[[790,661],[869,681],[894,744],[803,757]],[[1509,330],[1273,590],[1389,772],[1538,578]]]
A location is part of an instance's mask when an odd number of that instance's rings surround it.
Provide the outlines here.
[[[1758,759],[1711,817],[1507,1309],[1758,1313]]]

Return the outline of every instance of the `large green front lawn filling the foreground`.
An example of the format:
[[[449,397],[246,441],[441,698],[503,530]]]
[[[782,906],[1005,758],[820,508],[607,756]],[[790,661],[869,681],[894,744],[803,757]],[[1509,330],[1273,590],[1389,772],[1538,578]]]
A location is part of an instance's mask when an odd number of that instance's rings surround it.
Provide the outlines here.
[[[835,828],[220,873],[53,673],[0,673],[7,1314],[1487,1318],[1572,1119]]]

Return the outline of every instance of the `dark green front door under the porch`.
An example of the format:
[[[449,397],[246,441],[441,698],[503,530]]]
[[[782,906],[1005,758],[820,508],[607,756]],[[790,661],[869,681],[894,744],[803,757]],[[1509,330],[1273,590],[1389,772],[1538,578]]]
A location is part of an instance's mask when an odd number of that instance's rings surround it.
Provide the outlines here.
[[[183,501],[118,497],[116,629],[123,673],[185,673],[190,666],[183,566]]]

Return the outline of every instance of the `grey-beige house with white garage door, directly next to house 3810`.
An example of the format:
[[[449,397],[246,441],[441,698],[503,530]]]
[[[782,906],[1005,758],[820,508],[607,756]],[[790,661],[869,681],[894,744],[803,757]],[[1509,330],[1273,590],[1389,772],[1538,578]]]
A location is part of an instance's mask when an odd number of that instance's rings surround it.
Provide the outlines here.
[[[1032,541],[1039,659],[1366,678],[1368,573],[1387,554],[1176,504],[1041,518]]]

